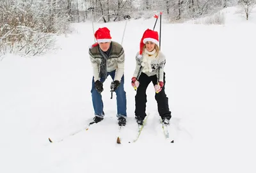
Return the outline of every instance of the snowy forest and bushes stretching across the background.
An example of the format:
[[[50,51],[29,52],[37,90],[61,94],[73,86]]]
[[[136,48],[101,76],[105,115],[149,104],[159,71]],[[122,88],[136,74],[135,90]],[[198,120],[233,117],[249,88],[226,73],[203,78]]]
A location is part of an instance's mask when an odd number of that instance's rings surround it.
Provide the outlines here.
[[[0,61],[7,53],[38,56],[56,49],[56,35],[72,32],[71,23],[118,22],[127,15],[150,19],[161,11],[170,23],[211,16],[204,24],[223,24],[219,11],[238,5],[248,20],[255,4],[256,0],[1,0]]]

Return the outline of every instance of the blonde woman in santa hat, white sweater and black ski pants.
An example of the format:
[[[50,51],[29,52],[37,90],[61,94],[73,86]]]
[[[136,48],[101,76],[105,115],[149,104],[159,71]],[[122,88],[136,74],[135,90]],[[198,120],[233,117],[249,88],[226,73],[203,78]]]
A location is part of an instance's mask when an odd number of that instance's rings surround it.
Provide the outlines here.
[[[164,124],[169,124],[171,112],[168,97],[164,92],[165,56],[159,51],[159,36],[157,31],[147,29],[140,41],[140,52],[136,54],[136,69],[132,77],[132,87],[136,89],[135,118],[139,125],[143,124],[146,115],[147,95],[146,90],[150,82],[156,90],[156,101],[159,116]]]

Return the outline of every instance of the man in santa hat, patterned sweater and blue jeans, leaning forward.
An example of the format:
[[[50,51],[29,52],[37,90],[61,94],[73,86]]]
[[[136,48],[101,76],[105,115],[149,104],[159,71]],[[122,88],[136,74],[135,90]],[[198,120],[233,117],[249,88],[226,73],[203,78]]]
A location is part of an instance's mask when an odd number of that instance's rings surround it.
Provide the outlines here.
[[[125,126],[127,114],[126,93],[124,91],[124,49],[119,43],[111,41],[110,31],[107,27],[99,28],[94,35],[97,43],[89,49],[93,66],[91,93],[95,114],[92,123],[99,123],[104,117],[101,92],[104,81],[110,75],[113,79],[110,88],[116,93],[118,124]]]

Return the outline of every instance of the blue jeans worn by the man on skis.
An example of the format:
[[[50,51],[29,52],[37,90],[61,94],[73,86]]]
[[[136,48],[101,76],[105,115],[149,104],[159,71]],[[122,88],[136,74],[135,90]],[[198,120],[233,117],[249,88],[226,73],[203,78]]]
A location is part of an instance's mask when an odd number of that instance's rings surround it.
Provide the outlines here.
[[[114,80],[115,79],[115,73],[116,70],[108,72],[108,75],[111,76],[111,78]],[[100,82],[104,82],[106,79],[100,78]],[[110,91],[110,86],[109,86],[109,91]],[[101,94],[96,91],[95,89],[95,82],[94,82],[94,77],[92,78],[92,103],[93,103],[93,109],[94,109],[94,114],[95,116],[104,116],[103,113],[103,102],[102,102],[102,96]],[[122,76],[122,79],[120,81],[120,85],[117,87],[116,91],[116,106],[117,106],[117,117],[126,117],[126,93],[124,91],[124,75]]]

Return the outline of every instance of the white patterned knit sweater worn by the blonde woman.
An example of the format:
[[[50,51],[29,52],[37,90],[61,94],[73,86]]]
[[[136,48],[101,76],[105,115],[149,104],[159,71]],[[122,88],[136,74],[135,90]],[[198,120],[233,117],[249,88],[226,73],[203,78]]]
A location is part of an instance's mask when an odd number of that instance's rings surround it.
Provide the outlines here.
[[[154,54],[150,56],[148,55],[148,53],[147,50],[144,50],[142,57],[140,57],[140,52],[136,54],[136,68],[133,77],[139,79],[141,72],[143,72],[148,77],[157,75],[157,79],[163,82],[164,65],[166,63],[164,54],[161,51],[159,51],[158,56],[156,56],[156,53],[154,52]]]

